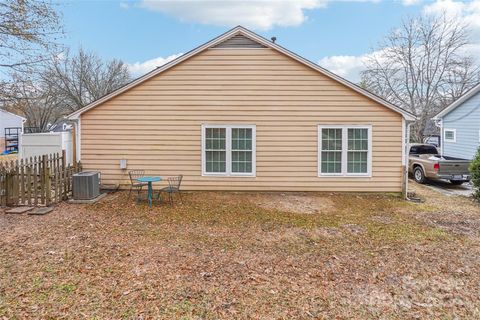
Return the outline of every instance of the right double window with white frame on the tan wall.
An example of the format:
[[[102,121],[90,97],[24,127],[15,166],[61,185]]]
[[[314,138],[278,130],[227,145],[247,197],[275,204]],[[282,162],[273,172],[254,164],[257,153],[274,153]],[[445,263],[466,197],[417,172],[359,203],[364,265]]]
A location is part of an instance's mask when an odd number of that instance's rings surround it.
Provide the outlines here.
[[[321,125],[318,149],[319,176],[371,175],[371,126]]]

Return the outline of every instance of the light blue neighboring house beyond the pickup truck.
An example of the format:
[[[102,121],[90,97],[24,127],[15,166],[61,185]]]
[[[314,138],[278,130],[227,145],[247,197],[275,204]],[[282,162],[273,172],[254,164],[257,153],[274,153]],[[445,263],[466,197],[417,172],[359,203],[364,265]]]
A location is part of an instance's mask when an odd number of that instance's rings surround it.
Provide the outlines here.
[[[480,84],[436,115],[434,120],[440,123],[442,155],[473,159],[480,146]]]

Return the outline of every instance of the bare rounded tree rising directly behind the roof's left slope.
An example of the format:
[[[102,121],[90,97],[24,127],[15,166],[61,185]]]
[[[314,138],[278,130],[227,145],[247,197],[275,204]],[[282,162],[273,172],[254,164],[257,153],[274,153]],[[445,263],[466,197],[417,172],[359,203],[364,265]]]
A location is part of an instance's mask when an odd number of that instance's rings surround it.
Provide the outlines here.
[[[108,62],[96,54],[80,49],[76,55],[67,52],[54,59],[42,76],[67,113],[114,91],[130,81],[128,67],[120,60]]]

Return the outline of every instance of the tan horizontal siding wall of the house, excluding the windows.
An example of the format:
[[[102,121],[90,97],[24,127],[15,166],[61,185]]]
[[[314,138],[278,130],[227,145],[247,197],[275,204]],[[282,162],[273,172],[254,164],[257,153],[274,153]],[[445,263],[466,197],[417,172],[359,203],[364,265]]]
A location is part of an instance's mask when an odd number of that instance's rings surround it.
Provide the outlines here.
[[[202,124],[256,125],[256,177],[202,176]],[[318,177],[320,124],[372,125],[372,177]],[[126,184],[122,158],[186,190],[400,192],[402,116],[273,49],[209,49],[82,114],[85,169]]]

